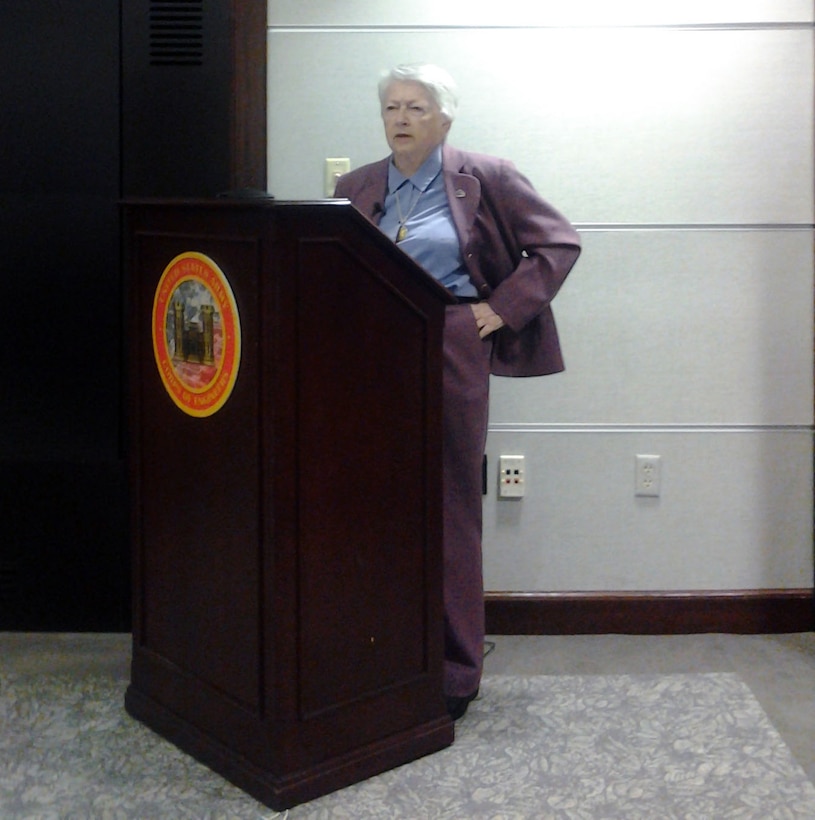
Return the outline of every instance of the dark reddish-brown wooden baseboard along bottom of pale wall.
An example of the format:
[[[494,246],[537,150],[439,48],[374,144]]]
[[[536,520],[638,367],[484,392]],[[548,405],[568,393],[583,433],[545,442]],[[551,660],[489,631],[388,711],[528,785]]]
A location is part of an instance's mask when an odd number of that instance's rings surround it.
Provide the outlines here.
[[[488,592],[491,635],[770,634],[815,629],[812,589]]]

